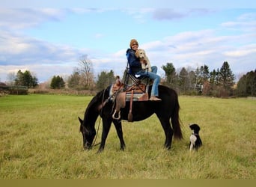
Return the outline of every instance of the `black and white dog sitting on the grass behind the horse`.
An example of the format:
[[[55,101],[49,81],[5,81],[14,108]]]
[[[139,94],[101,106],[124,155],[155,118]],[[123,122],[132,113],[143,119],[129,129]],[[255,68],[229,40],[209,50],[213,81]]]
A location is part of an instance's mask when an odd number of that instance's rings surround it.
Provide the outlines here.
[[[189,127],[192,130],[192,135],[190,135],[189,150],[198,150],[198,148],[202,145],[202,141],[199,136],[200,127],[195,123],[190,124]]]

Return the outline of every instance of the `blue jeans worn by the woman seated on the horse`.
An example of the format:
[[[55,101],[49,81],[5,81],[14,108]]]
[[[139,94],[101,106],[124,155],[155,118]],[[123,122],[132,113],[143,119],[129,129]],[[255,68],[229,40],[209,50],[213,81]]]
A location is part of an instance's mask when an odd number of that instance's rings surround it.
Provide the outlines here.
[[[140,75],[140,76],[148,76],[149,79],[153,80],[153,85],[151,89],[151,96],[158,96],[158,85],[161,81],[161,77],[156,74],[157,72],[157,67],[153,66],[151,67],[152,72],[147,72],[145,70],[141,70],[137,72],[135,75]]]

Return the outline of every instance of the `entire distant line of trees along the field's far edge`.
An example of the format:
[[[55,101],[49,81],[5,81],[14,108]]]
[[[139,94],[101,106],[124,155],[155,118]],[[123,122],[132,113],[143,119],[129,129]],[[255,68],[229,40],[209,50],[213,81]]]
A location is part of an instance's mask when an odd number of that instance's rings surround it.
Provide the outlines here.
[[[70,88],[74,90],[100,91],[115,82],[115,73],[102,71],[94,77],[93,65],[87,55],[79,60],[79,66],[66,81],[61,76],[53,76],[50,88]],[[209,67],[197,67],[195,70],[182,67],[177,70],[172,63],[162,65],[165,76],[162,77],[162,85],[174,88],[179,94],[204,95],[204,96],[256,96],[256,70],[246,73],[235,84],[235,76],[229,67],[228,61],[217,70],[209,70]],[[124,72],[125,73],[125,72]],[[124,76],[123,76],[124,77]],[[25,85],[34,88],[38,85],[37,78],[26,70],[19,70],[16,76],[9,75],[14,85]]]

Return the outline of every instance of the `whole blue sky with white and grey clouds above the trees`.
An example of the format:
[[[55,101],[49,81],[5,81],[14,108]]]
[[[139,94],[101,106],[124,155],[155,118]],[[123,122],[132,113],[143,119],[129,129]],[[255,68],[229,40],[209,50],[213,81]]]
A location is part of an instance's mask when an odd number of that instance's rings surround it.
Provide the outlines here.
[[[160,76],[168,62],[176,69],[206,64],[212,71],[228,61],[236,74],[256,69],[252,1],[235,7],[214,6],[214,2],[210,7],[181,7],[172,6],[173,1],[159,7],[115,7],[108,2],[100,7],[70,6],[70,1],[47,8],[37,1],[0,6],[0,82],[18,70],[30,70],[39,82],[69,76],[82,55],[88,55],[95,76],[109,70],[122,76],[132,38],[159,67]]]

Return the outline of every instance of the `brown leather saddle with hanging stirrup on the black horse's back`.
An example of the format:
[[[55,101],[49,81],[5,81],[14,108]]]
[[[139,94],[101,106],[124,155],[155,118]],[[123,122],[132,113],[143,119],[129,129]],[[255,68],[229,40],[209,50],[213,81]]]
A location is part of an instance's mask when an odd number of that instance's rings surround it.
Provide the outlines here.
[[[110,94],[115,96],[113,98],[115,102],[115,111],[112,115],[113,119],[121,119],[121,108],[126,106],[126,102],[129,102],[129,114],[128,121],[132,122],[132,102],[148,101],[148,85],[138,84],[125,87],[121,82],[115,82],[110,89]],[[116,116],[118,114],[118,116]]]

